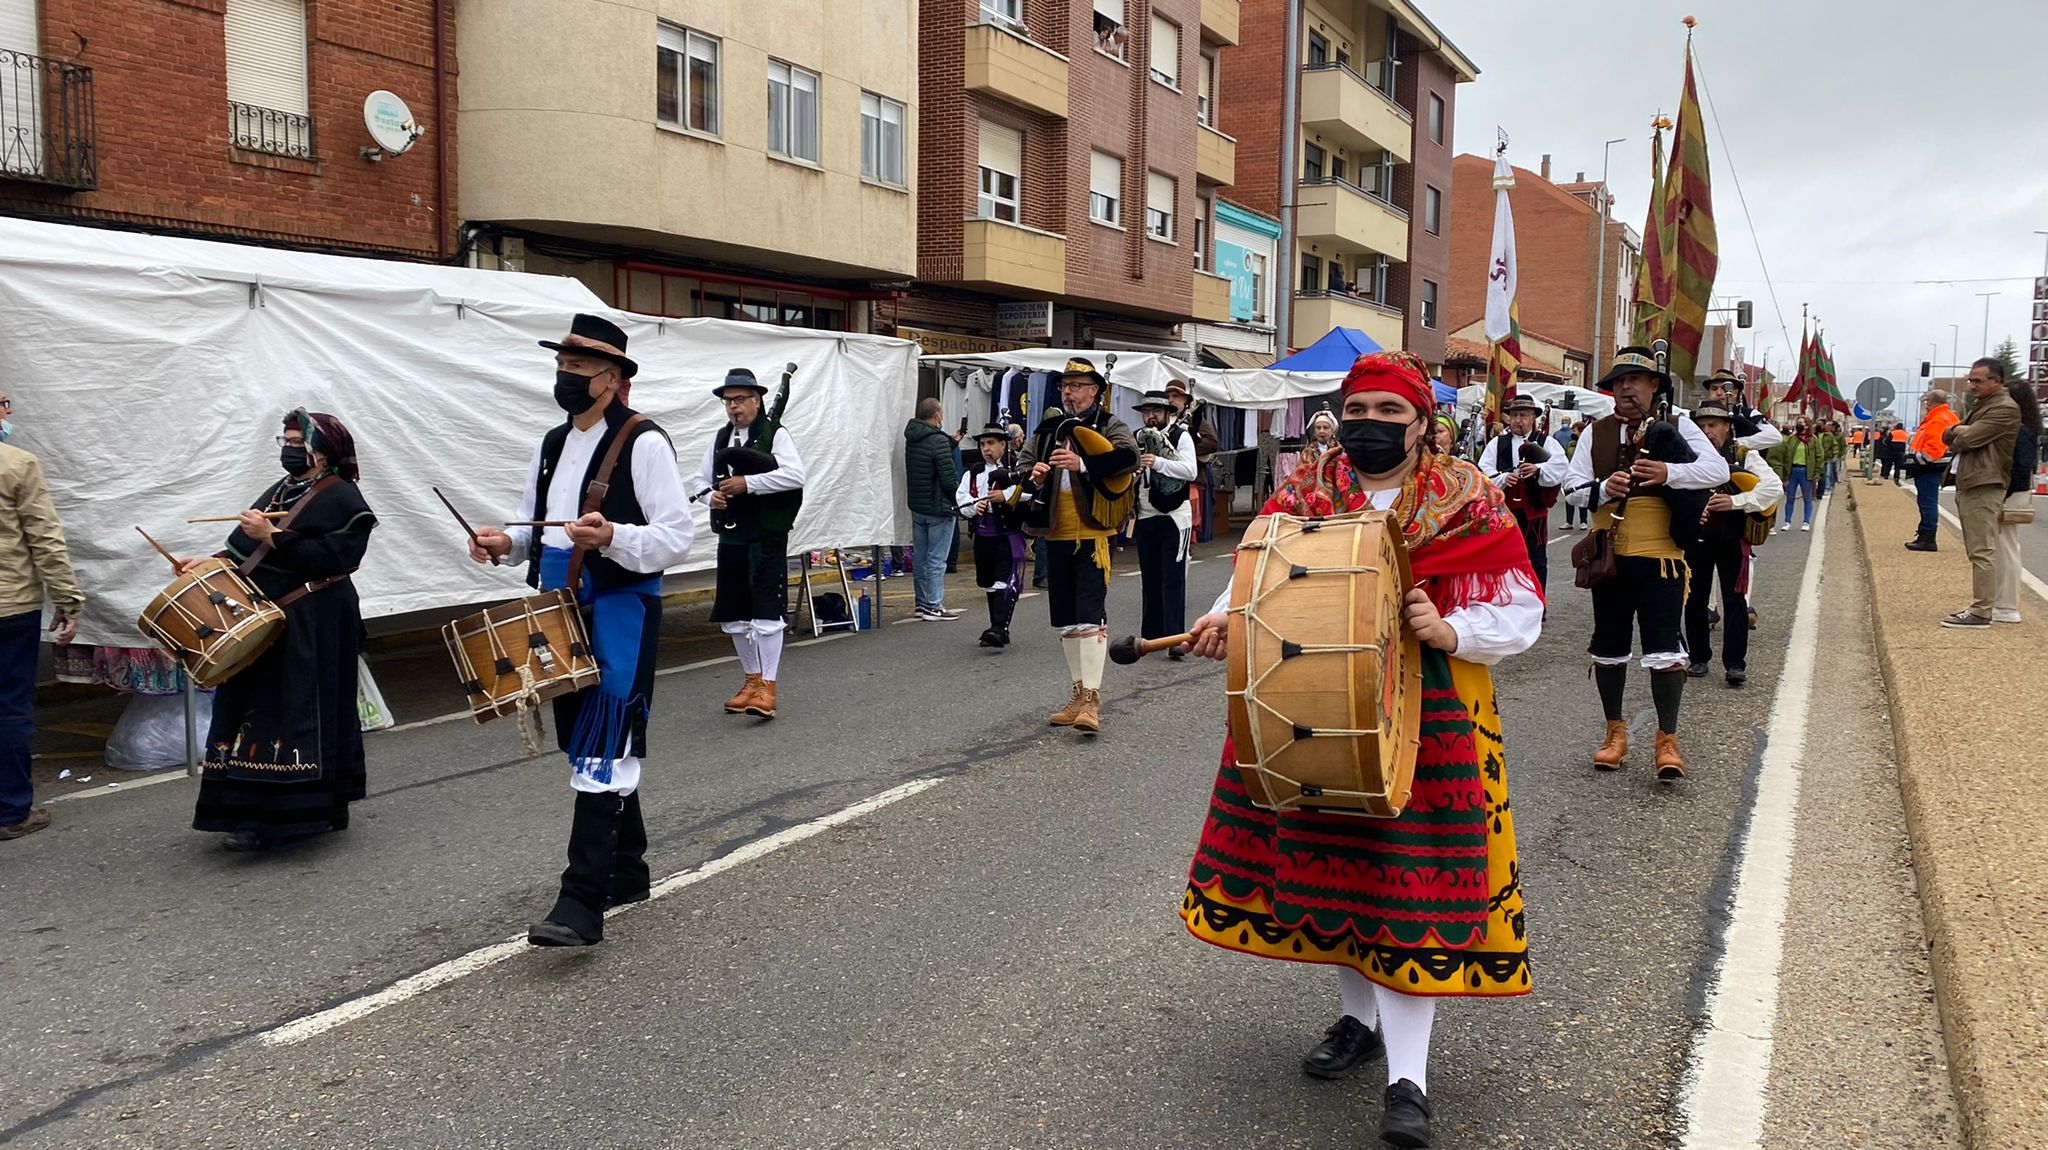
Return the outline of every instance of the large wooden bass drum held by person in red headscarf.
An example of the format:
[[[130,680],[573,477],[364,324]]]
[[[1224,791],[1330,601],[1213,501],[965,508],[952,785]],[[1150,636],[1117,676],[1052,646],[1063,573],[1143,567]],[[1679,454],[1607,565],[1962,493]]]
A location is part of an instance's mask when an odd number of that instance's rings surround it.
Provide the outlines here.
[[[1260,516],[1237,544],[1225,661],[1251,802],[1393,819],[1415,782],[1421,647],[1386,512]]]

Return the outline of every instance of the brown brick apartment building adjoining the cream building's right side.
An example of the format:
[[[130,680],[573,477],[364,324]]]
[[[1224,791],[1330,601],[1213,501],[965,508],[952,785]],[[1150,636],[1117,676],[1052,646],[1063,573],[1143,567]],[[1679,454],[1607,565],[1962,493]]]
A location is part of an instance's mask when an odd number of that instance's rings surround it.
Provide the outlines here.
[[[881,329],[928,352],[1190,354],[1229,319],[1212,125],[1239,0],[924,0],[918,284]]]

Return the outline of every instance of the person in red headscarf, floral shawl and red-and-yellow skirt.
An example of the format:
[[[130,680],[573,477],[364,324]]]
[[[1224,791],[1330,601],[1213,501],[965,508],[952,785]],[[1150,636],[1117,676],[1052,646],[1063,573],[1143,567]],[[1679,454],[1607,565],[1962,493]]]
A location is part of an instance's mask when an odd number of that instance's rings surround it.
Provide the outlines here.
[[[1362,356],[1343,381],[1346,458],[1329,469],[1329,487],[1288,481],[1264,512],[1393,510],[1403,524],[1419,583],[1403,614],[1423,647],[1409,804],[1397,819],[1276,814],[1247,800],[1225,743],[1182,900],[1188,933],[1206,943],[1337,968],[1343,1013],[1303,1070],[1343,1078],[1384,1054],[1380,1138],[1393,1146],[1430,1146],[1436,999],[1530,990],[1489,667],[1536,643],[1542,591],[1501,491],[1436,448],[1432,401],[1415,356]],[[1229,602],[1225,589],[1194,624],[1194,655],[1225,657]]]

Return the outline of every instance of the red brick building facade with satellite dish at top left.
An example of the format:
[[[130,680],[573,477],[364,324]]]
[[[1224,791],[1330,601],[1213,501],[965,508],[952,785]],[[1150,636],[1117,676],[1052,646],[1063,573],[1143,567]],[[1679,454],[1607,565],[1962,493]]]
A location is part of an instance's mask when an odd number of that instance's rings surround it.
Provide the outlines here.
[[[35,43],[0,43],[14,92],[0,127],[43,147],[0,162],[0,211],[418,260],[455,250],[453,0],[305,0],[305,113],[244,104],[240,121],[229,0],[0,6],[35,29]],[[358,153],[373,143],[362,102],[375,90],[406,100],[424,129],[406,156]]]

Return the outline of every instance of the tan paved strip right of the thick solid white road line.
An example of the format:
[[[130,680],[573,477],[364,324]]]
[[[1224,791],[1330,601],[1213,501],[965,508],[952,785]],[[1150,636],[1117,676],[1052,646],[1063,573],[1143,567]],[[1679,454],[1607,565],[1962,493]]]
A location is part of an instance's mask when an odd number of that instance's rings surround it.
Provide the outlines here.
[[[2048,1119],[2048,714],[2040,698],[2042,608],[2019,626],[1944,630],[1968,598],[1962,538],[1909,552],[1911,491],[1843,487],[1870,579],[1878,665],[1890,700],[1898,790],[1919,882],[1942,1037],[1966,1144],[2040,1146]],[[1851,798],[1853,800],[1853,798]],[[1851,990],[1853,992],[1853,990]],[[1882,1025],[1882,1023],[1878,1023]]]

